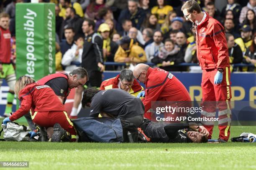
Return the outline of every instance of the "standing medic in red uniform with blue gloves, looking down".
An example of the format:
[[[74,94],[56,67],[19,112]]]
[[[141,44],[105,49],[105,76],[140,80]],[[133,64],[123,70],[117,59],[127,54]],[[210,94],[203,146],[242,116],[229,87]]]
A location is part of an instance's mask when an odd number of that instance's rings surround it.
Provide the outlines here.
[[[218,106],[219,141],[228,141],[231,122],[231,82],[225,29],[218,20],[202,12],[200,5],[189,0],[182,6],[187,20],[196,28],[197,58],[202,68],[202,117],[215,117]],[[205,121],[211,138],[214,122]]]

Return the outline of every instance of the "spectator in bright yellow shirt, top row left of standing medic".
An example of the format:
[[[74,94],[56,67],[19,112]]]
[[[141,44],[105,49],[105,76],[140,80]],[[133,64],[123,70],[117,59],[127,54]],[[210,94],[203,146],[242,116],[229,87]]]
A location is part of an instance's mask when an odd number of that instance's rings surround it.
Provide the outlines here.
[[[164,23],[164,18],[166,15],[173,10],[173,7],[170,5],[165,5],[165,0],[157,0],[157,6],[154,6],[151,9],[152,14],[158,15],[158,23]]]

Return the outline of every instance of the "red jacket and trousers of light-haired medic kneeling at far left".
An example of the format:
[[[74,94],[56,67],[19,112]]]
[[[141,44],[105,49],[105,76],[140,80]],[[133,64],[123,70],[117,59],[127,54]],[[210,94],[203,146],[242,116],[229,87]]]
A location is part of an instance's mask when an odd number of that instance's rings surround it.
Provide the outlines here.
[[[59,123],[72,135],[72,141],[76,140],[77,133],[73,123],[51,87],[32,83],[20,90],[18,96],[20,108],[9,117],[10,121],[19,119],[32,109],[31,117],[34,123],[41,127],[54,127],[54,124]]]

